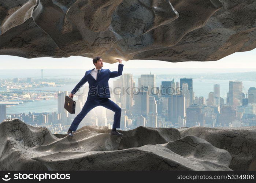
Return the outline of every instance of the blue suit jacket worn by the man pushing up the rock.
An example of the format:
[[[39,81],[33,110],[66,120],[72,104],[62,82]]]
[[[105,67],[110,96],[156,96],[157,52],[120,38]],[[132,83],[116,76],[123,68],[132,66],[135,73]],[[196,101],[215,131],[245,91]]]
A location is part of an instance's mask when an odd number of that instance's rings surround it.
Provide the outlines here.
[[[84,77],[79,81],[79,83],[74,87],[71,93],[75,94],[78,89],[83,86],[86,81],[89,83],[88,98],[97,98],[98,95],[101,98],[110,98],[110,89],[108,86],[108,80],[110,78],[115,78],[122,75],[123,64],[118,64],[118,71],[110,71],[109,69],[101,69],[99,78],[97,81],[90,74],[95,68],[86,71]]]

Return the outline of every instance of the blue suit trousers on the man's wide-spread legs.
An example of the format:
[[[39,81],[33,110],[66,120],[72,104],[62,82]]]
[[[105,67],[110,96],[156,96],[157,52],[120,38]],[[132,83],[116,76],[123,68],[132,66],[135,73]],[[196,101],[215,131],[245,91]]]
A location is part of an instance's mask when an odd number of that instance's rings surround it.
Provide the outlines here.
[[[90,110],[92,110],[94,107],[97,107],[99,105],[115,112],[113,128],[120,128],[120,119],[121,119],[122,109],[109,98],[97,97],[97,98],[87,98],[85,105],[82,108],[82,111],[77,115],[77,117],[75,117],[75,119],[71,123],[70,130],[76,131],[79,123],[82,121],[82,119],[84,119],[87,113]]]

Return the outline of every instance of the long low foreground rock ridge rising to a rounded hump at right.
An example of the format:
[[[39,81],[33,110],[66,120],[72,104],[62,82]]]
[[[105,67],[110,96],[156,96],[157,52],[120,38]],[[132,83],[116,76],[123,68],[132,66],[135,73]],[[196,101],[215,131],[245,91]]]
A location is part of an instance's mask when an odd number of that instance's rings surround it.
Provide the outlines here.
[[[108,152],[36,157],[49,170],[231,170],[230,154],[195,136],[165,144]]]

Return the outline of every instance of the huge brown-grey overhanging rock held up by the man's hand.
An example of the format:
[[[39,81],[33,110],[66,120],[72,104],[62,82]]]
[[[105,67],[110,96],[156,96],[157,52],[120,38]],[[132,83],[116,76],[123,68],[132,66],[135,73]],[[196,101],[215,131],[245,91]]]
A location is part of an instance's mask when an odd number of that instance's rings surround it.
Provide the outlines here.
[[[256,48],[255,20],[255,0],[0,0],[0,54],[212,61]]]

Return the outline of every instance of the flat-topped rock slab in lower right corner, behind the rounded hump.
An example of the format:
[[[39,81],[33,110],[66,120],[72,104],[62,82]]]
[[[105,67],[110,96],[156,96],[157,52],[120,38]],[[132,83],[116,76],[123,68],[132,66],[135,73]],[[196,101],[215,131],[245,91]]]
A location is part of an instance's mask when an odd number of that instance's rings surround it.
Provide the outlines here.
[[[256,126],[237,128],[191,127],[182,137],[195,135],[215,147],[226,149],[232,156],[233,170],[256,170]]]

